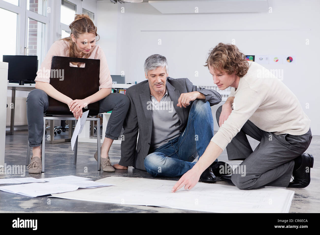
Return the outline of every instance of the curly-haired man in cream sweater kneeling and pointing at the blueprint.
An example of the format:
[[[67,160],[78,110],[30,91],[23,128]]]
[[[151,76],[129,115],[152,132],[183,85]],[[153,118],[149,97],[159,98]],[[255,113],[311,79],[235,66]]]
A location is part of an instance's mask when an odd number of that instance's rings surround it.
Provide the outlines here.
[[[231,170],[231,176],[221,179],[232,181],[239,189],[307,187],[313,167],[313,156],[304,153],[312,139],[310,119],[293,92],[266,68],[247,61],[232,44],[219,43],[214,47],[205,66],[219,89],[231,87],[231,92],[216,113],[220,129],[172,192],[183,186],[194,187],[203,170],[225,148],[229,160],[243,162]],[[246,135],[260,141],[254,151]]]

